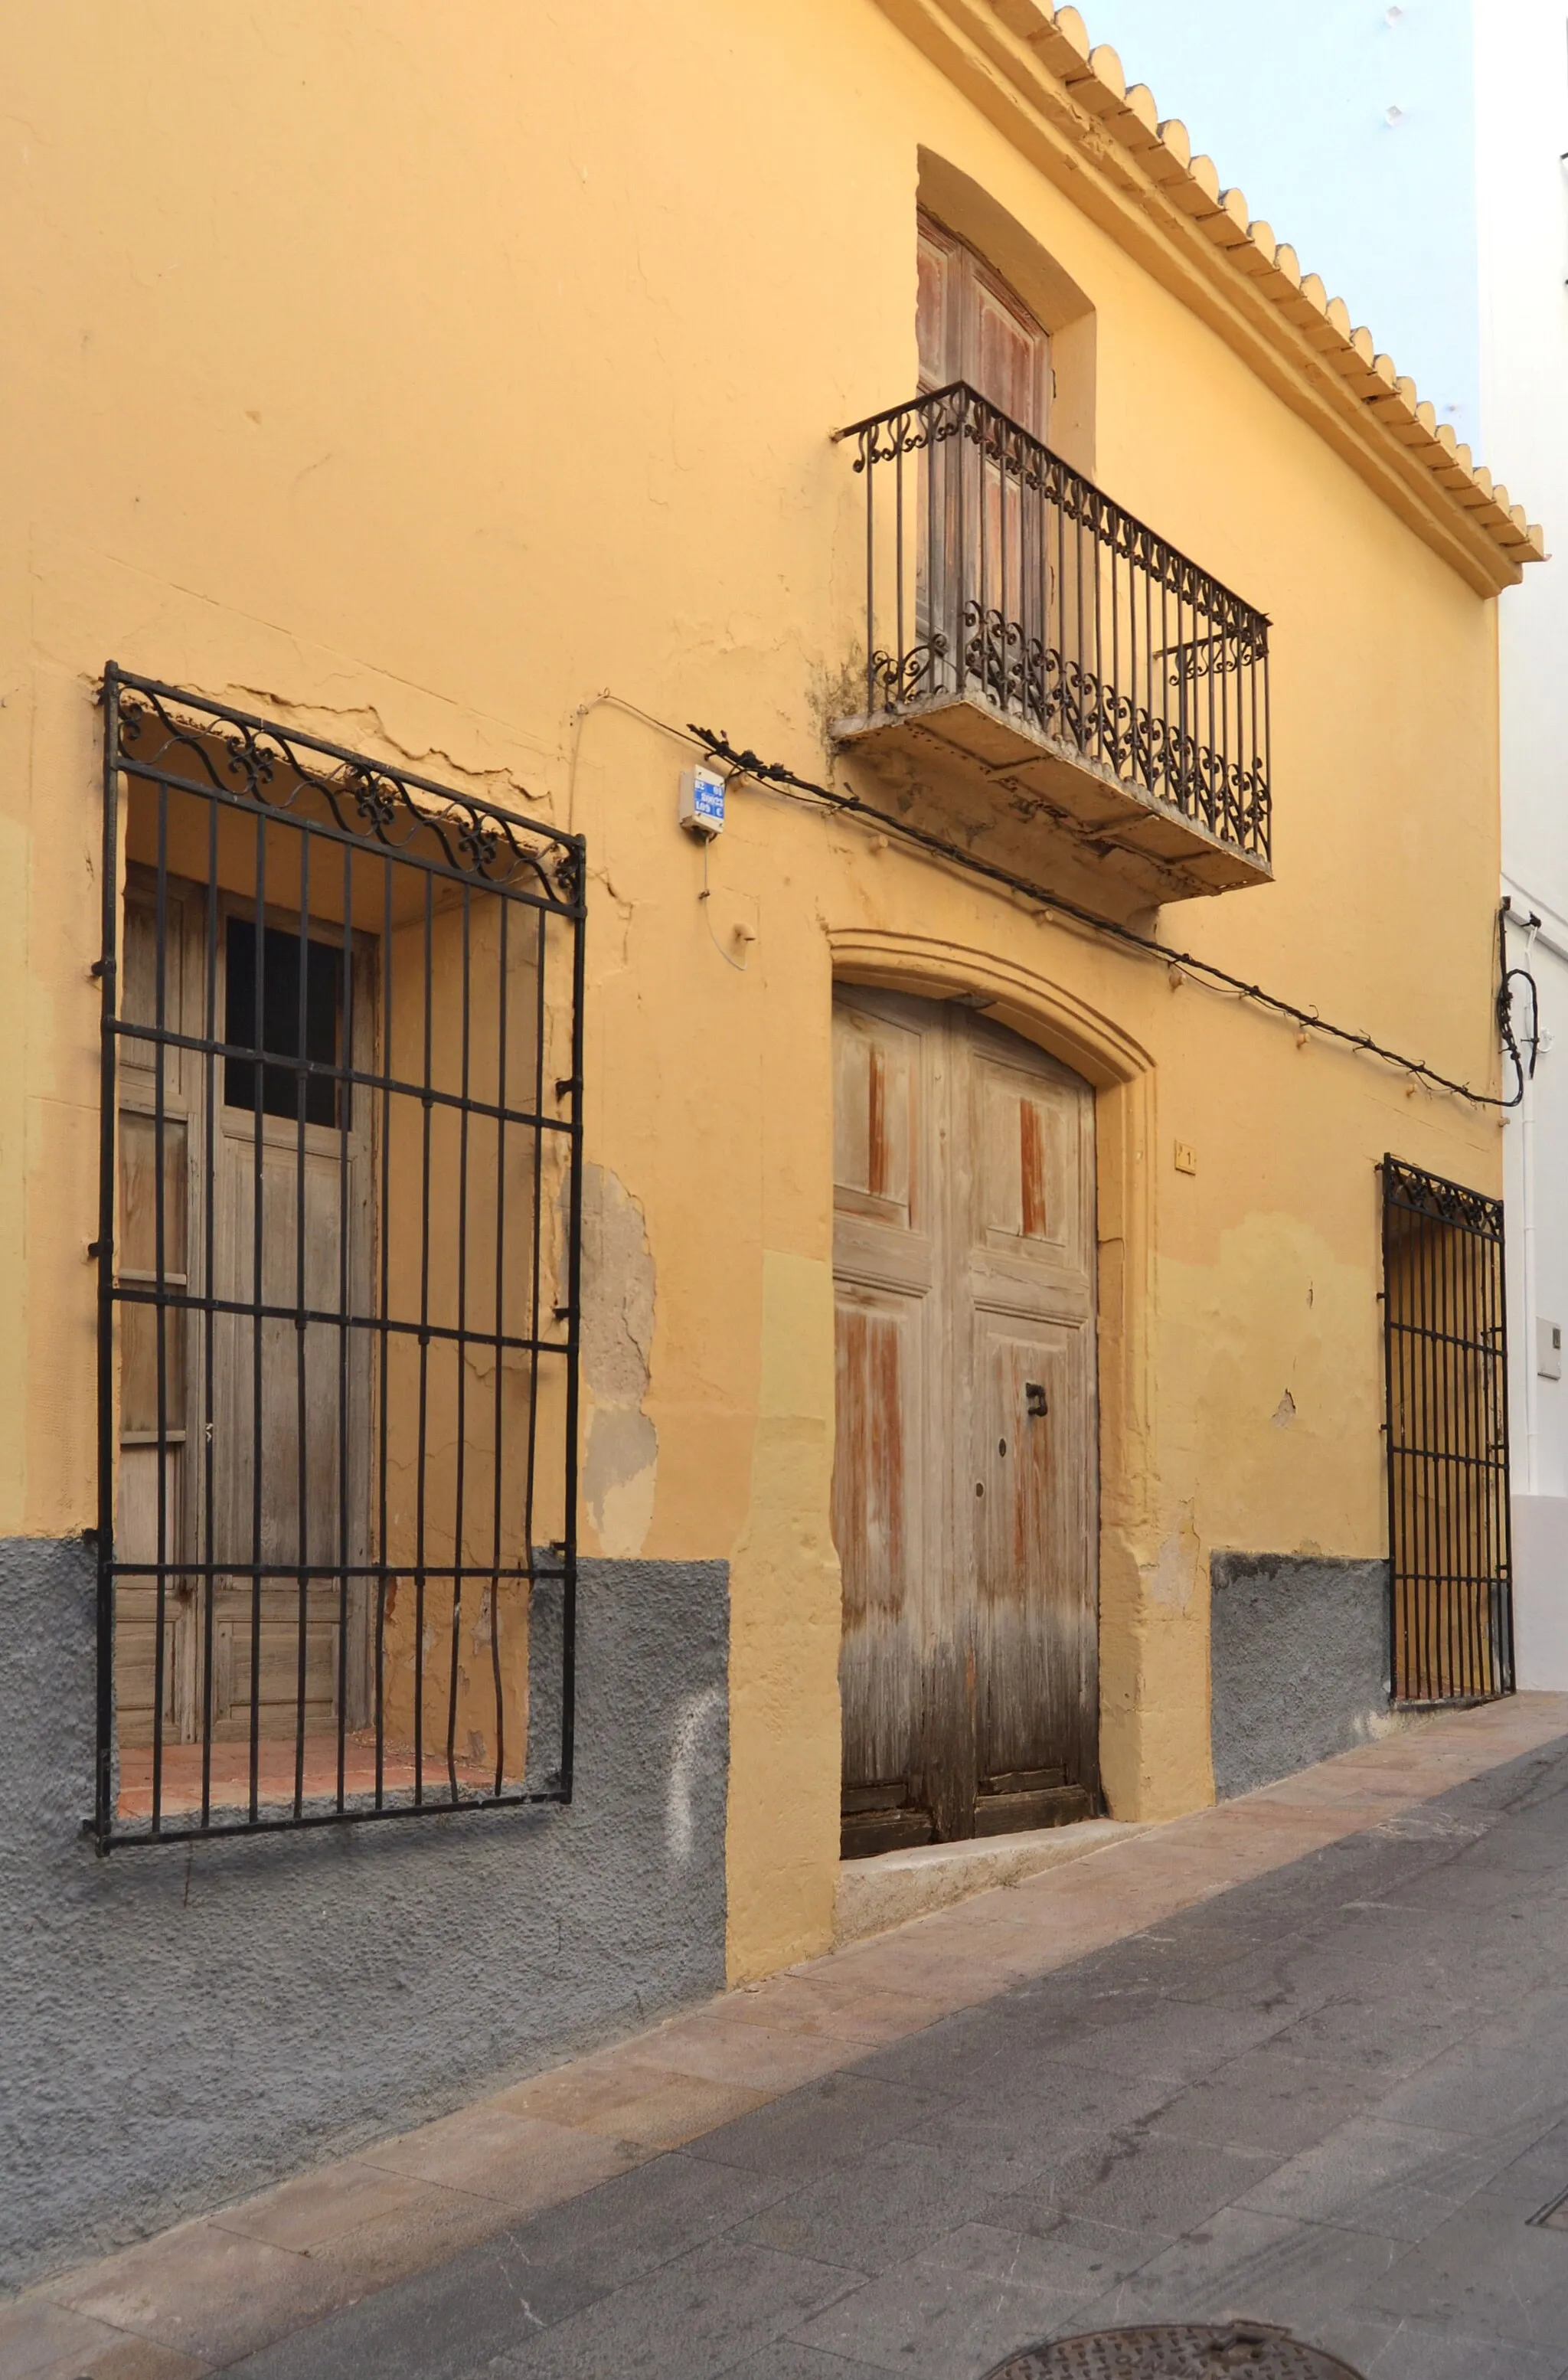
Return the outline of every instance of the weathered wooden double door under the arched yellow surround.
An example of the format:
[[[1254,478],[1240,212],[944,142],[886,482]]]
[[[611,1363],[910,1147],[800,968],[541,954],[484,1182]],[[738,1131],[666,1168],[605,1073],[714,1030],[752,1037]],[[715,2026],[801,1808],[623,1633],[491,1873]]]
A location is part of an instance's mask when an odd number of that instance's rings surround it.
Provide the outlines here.
[[[833,1064],[845,1856],[1090,1816],[1092,1092],[871,990]]]

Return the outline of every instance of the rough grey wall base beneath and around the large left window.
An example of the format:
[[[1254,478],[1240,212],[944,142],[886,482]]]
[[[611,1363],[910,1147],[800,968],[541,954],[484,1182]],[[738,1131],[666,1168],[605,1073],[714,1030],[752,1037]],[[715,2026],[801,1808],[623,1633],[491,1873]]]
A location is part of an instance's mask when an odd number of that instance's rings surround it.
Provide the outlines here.
[[[728,1564],[588,1561],[571,1809],[124,1849],[93,1564],[0,1542],[0,2285],[723,1985]]]

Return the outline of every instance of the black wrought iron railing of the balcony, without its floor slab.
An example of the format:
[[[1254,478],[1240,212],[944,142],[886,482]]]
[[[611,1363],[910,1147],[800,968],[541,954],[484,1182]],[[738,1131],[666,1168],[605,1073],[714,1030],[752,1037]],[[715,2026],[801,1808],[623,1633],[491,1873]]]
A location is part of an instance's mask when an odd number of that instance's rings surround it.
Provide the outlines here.
[[[1206,888],[1266,876],[1266,616],[961,381],[840,436],[866,481],[845,728],[978,704],[1252,862]]]

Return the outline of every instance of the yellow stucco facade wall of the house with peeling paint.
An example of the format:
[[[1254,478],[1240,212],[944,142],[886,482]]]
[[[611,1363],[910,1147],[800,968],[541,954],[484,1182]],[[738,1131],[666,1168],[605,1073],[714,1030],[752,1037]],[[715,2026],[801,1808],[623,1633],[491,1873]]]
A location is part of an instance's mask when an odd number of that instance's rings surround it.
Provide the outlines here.
[[[1068,459],[1273,624],[1273,881],[1159,933],[1497,1090],[1530,533],[1068,10],[59,0],[10,50],[0,1535],[95,1502],[114,657],[588,840],[583,1545],[730,1564],[733,1978],[833,1928],[835,981],[1095,1085],[1104,1790],[1209,1799],[1211,1552],[1385,1549],[1375,1164],[1494,1192],[1499,1119],[754,783],[702,900],[680,731],[876,795],[830,431],[914,393],[940,200],[1056,333]]]

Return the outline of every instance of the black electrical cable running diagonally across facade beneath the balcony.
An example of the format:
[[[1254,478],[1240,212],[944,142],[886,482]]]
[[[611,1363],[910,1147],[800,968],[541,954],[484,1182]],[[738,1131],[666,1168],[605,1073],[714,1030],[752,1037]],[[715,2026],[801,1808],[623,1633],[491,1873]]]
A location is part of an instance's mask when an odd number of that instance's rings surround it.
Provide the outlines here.
[[[1018,876],[1014,869],[1004,869],[995,859],[980,859],[976,852],[966,852],[964,845],[949,843],[945,835],[933,835],[923,826],[911,826],[909,819],[895,816],[890,809],[878,809],[876,802],[864,802],[857,793],[840,793],[835,785],[821,785],[816,778],[802,776],[797,769],[788,769],[783,762],[766,762],[752,750],[738,750],[728,733],[697,726],[688,721],[685,728],[673,726],[669,719],[657,719],[652,712],[642,709],[638,702],[628,702],[623,695],[614,695],[602,688],[592,702],[585,702],[576,712],[576,724],[581,733],[583,716],[597,704],[611,704],[633,719],[642,719],[645,726],[657,728],[661,735],[673,735],[678,743],[695,745],[707,752],[709,759],[726,769],[730,781],[749,778],[754,785],[771,788],[788,795],[790,800],[819,804],[833,809],[840,816],[859,819],[878,835],[897,838],[930,859],[940,859],[947,866],[961,869],[966,876],[978,876],[985,883],[999,885],[1014,892],[1018,900],[1035,904],[1037,912],[1059,916],[1066,923],[1083,928],[1085,933],[1116,942],[1123,950],[1133,950],[1144,959],[1159,959],[1161,966],[1171,969],[1173,976],[1192,978],[1211,990],[1230,992],[1237,1000],[1249,1000],[1254,1007],[1268,1009],[1275,1016],[1287,1019],[1302,1033],[1323,1033],[1328,1040],[1342,1042],[1347,1050],[1361,1050],[1366,1057],[1378,1057],[1387,1066],[1397,1066],[1401,1073],[1413,1076],[1418,1083],[1430,1083],[1432,1090],[1447,1090],[1456,1100],[1468,1100],[1470,1107],[1489,1107],[1509,1111],[1520,1104],[1525,1095],[1525,1081],[1535,1073],[1535,1059],[1539,1050],[1539,1023],[1535,1012],[1535,978],[1525,966],[1509,966],[1504,921],[1499,919],[1499,981],[1497,981],[1497,1028],[1501,1035],[1504,1052],[1513,1066],[1513,1090],[1499,1097],[1489,1090],[1475,1090],[1470,1083],[1459,1083],[1449,1073],[1440,1073],[1437,1066],[1428,1066],[1425,1059],[1406,1057],[1401,1050],[1390,1050],[1373,1033],[1356,1033],[1351,1026],[1330,1023],[1316,1009],[1306,1009],[1294,1000],[1285,1000],[1280,992],[1266,990],[1261,983],[1249,983],[1244,976],[1233,976],[1230,969],[1218,966],[1213,959],[1202,959],[1197,952],[1175,950],[1168,942],[1156,942],[1147,933],[1137,933],[1133,926],[1121,926],[1114,919],[1095,916],[1092,909],[1078,907],[1078,902],[1064,900],[1061,892],[1052,892],[1049,885],[1035,883],[1028,876]],[[576,778],[576,738],[573,738],[573,778]],[[707,873],[704,892],[707,900]],[[1504,902],[1504,916],[1506,916]],[[709,933],[711,933],[709,923]],[[719,954],[728,959],[730,966],[745,973],[745,962],[730,959],[730,954],[719,945]],[[1532,1009],[1530,1031],[1523,1035],[1530,1057],[1520,1052],[1520,1038],[1513,1026],[1513,985],[1528,983]]]

